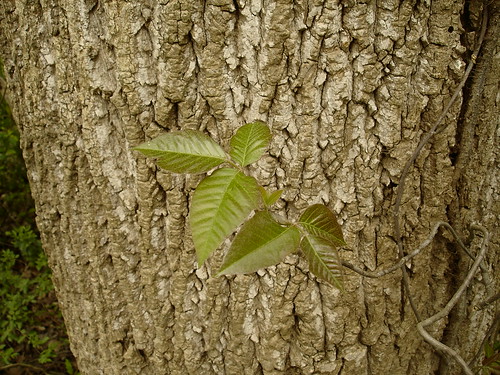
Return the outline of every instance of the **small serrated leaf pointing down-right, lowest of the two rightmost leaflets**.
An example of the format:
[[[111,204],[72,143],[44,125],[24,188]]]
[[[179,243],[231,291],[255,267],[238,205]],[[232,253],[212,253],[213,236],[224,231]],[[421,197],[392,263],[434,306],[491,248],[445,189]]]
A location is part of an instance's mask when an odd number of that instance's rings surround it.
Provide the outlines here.
[[[308,234],[302,238],[300,247],[309,263],[309,271],[340,290],[344,289],[342,263],[330,241]]]

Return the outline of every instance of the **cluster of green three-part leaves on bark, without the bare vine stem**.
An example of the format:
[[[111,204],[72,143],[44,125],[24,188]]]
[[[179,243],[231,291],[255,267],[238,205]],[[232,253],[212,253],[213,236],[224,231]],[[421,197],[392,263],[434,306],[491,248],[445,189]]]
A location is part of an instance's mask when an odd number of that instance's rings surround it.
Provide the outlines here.
[[[270,141],[268,126],[255,121],[236,131],[229,153],[194,130],[163,134],[134,149],[174,173],[207,173],[217,168],[199,183],[191,202],[189,223],[198,266],[241,226],[217,275],[255,272],[300,248],[314,275],[342,289],[337,249],[345,242],[334,214],[325,205],[315,204],[297,223],[278,218],[270,208],[283,191],[269,192],[245,173],[245,167],[262,157]]]

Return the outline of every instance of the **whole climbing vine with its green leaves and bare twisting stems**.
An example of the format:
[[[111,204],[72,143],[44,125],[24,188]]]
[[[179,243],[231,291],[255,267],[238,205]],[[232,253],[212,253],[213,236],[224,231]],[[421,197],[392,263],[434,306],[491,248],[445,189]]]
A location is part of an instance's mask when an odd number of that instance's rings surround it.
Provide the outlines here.
[[[399,255],[397,263],[384,270],[368,272],[341,261],[337,248],[345,245],[342,231],[334,214],[325,205],[308,207],[296,223],[270,212],[271,206],[280,198],[282,191],[268,192],[259,186],[253,177],[245,174],[244,169],[260,159],[270,142],[269,128],[264,123],[256,121],[238,129],[231,139],[229,153],[203,133],[195,131],[168,133],[135,148],[146,156],[158,159],[160,167],[176,173],[205,173],[222,164],[228,165],[215,170],[202,180],[193,196],[190,224],[199,266],[243,223],[217,275],[254,272],[279,263],[286,255],[299,248],[309,262],[310,271],[340,289],[342,289],[343,267],[371,278],[382,277],[401,269],[404,288],[417,320],[416,328],[422,338],[437,351],[456,360],[464,373],[472,375],[470,368],[472,362],[467,364],[454,349],[432,337],[426,327],[450,313],[479,268],[483,272],[486,287],[490,289],[492,283],[482,262],[489,242],[489,233],[482,226],[471,225],[471,230],[482,232],[483,238],[477,255],[473,256],[448,223],[438,222],[429,237],[418,248],[405,255],[399,210],[410,168],[423,147],[435,134],[443,130],[439,126],[458,98],[476,63],[488,22],[487,6],[486,4],[483,6],[481,33],[464,77],[438,120],[423,136],[403,168],[394,205],[394,230]],[[255,214],[248,219],[254,211]],[[473,265],[446,306],[433,316],[423,319],[413,301],[406,263],[432,242],[440,227],[451,232],[460,248],[473,260]],[[491,291],[489,294],[492,294]],[[498,294],[490,296],[477,308],[483,308],[483,305],[496,299]]]

